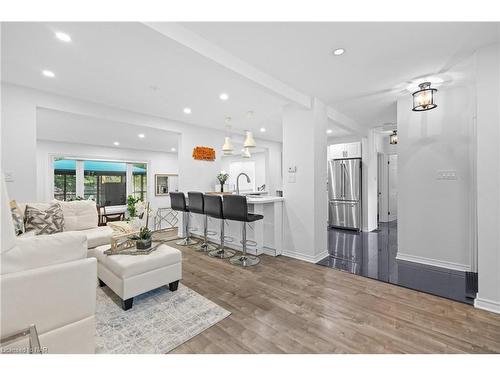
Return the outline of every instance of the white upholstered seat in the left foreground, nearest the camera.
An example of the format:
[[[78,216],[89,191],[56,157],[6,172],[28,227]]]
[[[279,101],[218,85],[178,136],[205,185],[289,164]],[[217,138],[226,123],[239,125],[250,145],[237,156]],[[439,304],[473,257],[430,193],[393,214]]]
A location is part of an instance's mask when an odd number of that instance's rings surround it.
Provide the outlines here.
[[[0,336],[35,324],[48,353],[94,353],[97,263],[78,232],[18,239],[2,176]],[[28,347],[21,340],[3,348]]]

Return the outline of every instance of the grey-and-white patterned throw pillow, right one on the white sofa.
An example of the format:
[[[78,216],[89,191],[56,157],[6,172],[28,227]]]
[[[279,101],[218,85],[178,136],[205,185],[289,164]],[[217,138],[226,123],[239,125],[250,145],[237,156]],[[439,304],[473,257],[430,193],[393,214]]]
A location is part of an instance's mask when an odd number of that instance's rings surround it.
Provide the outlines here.
[[[46,210],[26,206],[26,232],[34,231],[36,235],[62,232],[64,215],[61,205],[52,203]]]

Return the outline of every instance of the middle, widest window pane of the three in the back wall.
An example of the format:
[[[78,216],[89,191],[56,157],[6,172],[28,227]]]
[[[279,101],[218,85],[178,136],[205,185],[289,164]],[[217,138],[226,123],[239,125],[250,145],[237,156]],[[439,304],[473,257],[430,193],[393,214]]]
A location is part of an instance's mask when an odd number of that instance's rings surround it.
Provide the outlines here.
[[[85,199],[100,206],[124,205],[127,199],[127,164],[108,161],[83,162]]]

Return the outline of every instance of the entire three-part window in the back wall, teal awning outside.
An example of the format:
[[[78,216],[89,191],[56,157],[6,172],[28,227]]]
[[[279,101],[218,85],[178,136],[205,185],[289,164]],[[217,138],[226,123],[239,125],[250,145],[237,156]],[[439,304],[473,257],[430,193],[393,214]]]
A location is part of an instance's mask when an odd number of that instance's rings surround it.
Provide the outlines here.
[[[55,158],[53,167],[55,199],[91,199],[100,206],[126,205],[127,194],[147,200],[146,163]]]

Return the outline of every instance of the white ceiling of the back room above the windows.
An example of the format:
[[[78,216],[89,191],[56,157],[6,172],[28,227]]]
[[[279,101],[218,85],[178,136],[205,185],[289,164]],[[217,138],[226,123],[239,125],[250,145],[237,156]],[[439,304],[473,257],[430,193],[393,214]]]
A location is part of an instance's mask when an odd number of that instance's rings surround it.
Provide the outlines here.
[[[141,133],[144,138],[139,138]],[[172,152],[172,147],[178,147],[179,136],[161,129],[38,108],[37,138],[117,149]],[[120,145],[115,146],[113,142]]]

